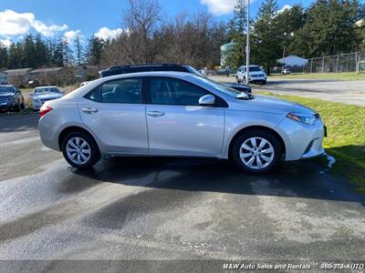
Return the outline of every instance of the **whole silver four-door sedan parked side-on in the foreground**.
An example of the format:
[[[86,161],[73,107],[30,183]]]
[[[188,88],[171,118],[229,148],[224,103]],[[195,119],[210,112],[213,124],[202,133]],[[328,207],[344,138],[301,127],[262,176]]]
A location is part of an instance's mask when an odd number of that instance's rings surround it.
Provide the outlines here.
[[[180,72],[103,77],[40,115],[44,145],[79,168],[103,156],[217,157],[262,173],[324,152],[325,127],[308,107]]]

